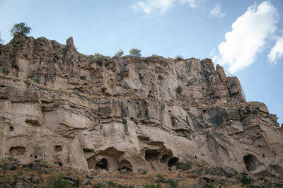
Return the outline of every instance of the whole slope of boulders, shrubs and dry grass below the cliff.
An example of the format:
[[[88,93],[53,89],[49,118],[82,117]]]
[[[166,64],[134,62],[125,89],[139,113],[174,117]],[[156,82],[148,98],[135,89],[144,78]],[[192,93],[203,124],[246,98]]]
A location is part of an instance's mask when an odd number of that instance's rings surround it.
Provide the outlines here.
[[[283,187],[283,177],[250,177],[231,168],[202,167],[167,172],[81,172],[35,162],[21,165],[8,158],[0,161],[0,187],[4,188],[161,188],[161,187]],[[69,185],[69,186],[68,186]]]

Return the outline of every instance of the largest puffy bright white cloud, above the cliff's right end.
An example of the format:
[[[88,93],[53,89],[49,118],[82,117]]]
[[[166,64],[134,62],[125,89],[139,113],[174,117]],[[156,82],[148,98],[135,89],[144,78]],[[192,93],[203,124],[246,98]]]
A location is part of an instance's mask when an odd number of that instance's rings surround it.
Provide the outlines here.
[[[254,4],[232,24],[232,30],[225,35],[226,42],[221,42],[216,63],[229,66],[232,74],[253,64],[257,52],[270,35],[277,30],[279,16],[270,1]]]

